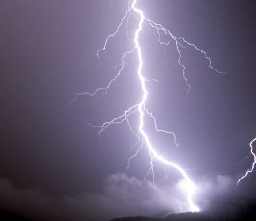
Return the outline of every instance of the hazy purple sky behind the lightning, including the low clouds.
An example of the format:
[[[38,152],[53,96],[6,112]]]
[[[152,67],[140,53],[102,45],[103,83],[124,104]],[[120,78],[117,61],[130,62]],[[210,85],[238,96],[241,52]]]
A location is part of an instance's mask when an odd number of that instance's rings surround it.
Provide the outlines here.
[[[256,196],[255,174],[236,187],[253,162],[249,143],[256,137],[255,1],[138,0],[137,8],[206,51],[214,68],[226,72],[209,69],[203,53],[182,44],[187,93],[175,42],[161,46],[145,23],[142,72],[158,80],[146,85],[146,106],[159,129],[174,132],[180,144],[176,148],[172,136],[152,131],[151,121],[145,127],[153,145],[186,169],[201,209],[218,196]],[[130,15],[128,34],[122,27],[99,53],[99,65],[96,53],[126,10],[126,0],[0,2],[0,209],[42,220],[186,210],[175,169],[155,162],[156,186],[152,175],[142,183],[150,167],[146,146],[125,173],[136,151],[126,122],[104,130],[101,139],[98,128],[88,126],[102,125],[141,100],[136,53],[106,95],[81,95],[69,106],[77,93],[93,93],[118,73],[123,53],[134,46],[137,15]],[[130,118],[134,130],[137,120],[136,114]]]

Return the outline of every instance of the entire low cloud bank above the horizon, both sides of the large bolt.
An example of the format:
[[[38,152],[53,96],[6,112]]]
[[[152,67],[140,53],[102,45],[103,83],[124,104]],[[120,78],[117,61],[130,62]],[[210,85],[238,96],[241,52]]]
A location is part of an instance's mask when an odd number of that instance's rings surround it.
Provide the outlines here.
[[[7,179],[0,179],[0,209],[31,220],[107,221],[116,217],[153,216],[186,211],[180,198],[182,180],[167,183],[140,182],[124,173],[111,175],[102,193],[80,193],[76,197],[53,198],[40,190],[17,189]],[[195,202],[209,213],[232,213],[252,202],[234,194],[235,183],[227,176],[204,177],[197,185]],[[223,207],[225,205],[225,207]]]

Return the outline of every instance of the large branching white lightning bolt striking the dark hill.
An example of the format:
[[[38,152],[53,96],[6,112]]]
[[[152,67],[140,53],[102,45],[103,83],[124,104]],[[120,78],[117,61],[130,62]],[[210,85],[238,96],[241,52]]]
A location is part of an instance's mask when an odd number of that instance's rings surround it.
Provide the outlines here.
[[[111,4],[112,4],[113,1],[111,1]],[[137,56],[138,56],[138,71],[137,71],[137,75],[138,75],[138,79],[140,81],[140,84],[141,84],[141,89],[143,91],[142,93],[142,98],[141,98],[141,101],[140,103],[137,103],[137,104],[134,104],[134,106],[132,107],[129,107],[127,110],[124,111],[124,113],[110,121],[107,121],[107,122],[104,122],[102,125],[99,125],[99,126],[93,126],[91,124],[89,124],[91,127],[94,127],[94,128],[98,128],[99,129],[99,137],[101,136],[101,133],[103,132],[103,130],[107,129],[109,126],[111,125],[114,125],[114,124],[121,124],[123,122],[126,122],[131,130],[131,132],[137,137],[137,141],[136,143],[134,144],[134,146],[132,147],[135,148],[137,147],[138,145],[140,145],[138,147],[138,149],[136,150],[135,154],[133,156],[130,156],[130,158],[128,159],[128,165],[127,165],[127,168],[126,168],[126,171],[127,169],[129,168],[129,165],[130,165],[130,160],[132,160],[132,158],[134,158],[135,156],[137,156],[138,152],[141,150],[141,148],[143,146],[146,146],[149,150],[149,156],[150,156],[150,168],[149,168],[149,171],[148,173],[146,174],[145,178],[147,178],[147,176],[149,176],[149,174],[153,175],[153,183],[154,183],[154,169],[153,169],[153,162],[154,161],[160,161],[162,162],[165,166],[170,166],[170,167],[173,167],[175,168],[177,171],[180,172],[180,174],[183,176],[183,178],[186,180],[187,182],[187,189],[186,189],[186,195],[187,195],[187,202],[188,202],[188,205],[189,205],[189,210],[190,211],[199,211],[199,208],[195,205],[195,203],[193,202],[193,196],[195,195],[195,184],[193,183],[193,181],[189,178],[189,176],[187,175],[187,173],[177,164],[173,163],[173,162],[170,162],[168,160],[166,160],[163,156],[160,156],[156,149],[153,147],[152,143],[150,142],[150,139],[149,139],[149,135],[146,133],[145,131],[145,118],[146,117],[149,117],[150,119],[153,120],[154,122],[154,129],[157,131],[157,132],[161,132],[161,133],[166,133],[166,134],[169,134],[173,137],[173,141],[175,143],[176,146],[178,146],[179,144],[176,142],[176,136],[173,132],[170,132],[170,131],[166,131],[166,130],[161,130],[158,128],[157,126],[157,121],[156,121],[156,118],[153,116],[152,113],[149,112],[149,110],[146,108],[146,101],[148,99],[148,91],[147,91],[147,88],[146,88],[146,84],[149,82],[149,81],[157,81],[156,79],[151,79],[151,80],[148,80],[146,79],[143,74],[142,74],[142,68],[143,68],[143,59],[142,59],[142,55],[141,55],[141,47],[140,47],[140,44],[139,44],[139,34],[143,28],[143,24],[147,25],[150,27],[151,29],[151,32],[152,30],[155,30],[155,36],[158,40],[158,42],[160,43],[160,45],[162,46],[163,48],[163,45],[169,45],[171,42],[174,42],[174,44],[176,45],[176,50],[177,50],[177,53],[178,53],[178,64],[180,65],[180,67],[182,68],[182,73],[183,73],[183,79],[185,80],[185,83],[187,85],[187,92],[190,90],[191,86],[190,84],[188,84],[188,81],[187,81],[187,78],[185,76],[185,66],[182,64],[181,62],[181,51],[180,51],[180,47],[182,48],[186,48],[184,45],[187,45],[187,46],[192,46],[195,50],[199,51],[200,53],[203,53],[203,55],[205,56],[206,60],[209,61],[209,68],[214,70],[215,72],[218,72],[218,73],[224,73],[225,72],[220,72],[218,71],[217,69],[215,69],[213,66],[212,66],[212,61],[210,60],[210,58],[207,56],[206,52],[199,49],[197,46],[195,46],[194,44],[188,42],[187,40],[185,40],[185,38],[183,37],[176,37],[174,36],[169,30],[165,29],[161,24],[157,24],[155,22],[153,22],[152,20],[148,19],[145,17],[145,15],[143,14],[143,11],[139,10],[138,8],[136,8],[136,3],[137,3],[137,0],[129,0],[128,1],[128,4],[127,4],[127,7],[128,7],[128,10],[126,11],[126,14],[125,16],[122,18],[122,21],[121,23],[119,24],[117,30],[113,33],[113,34],[110,34],[107,39],[105,40],[105,43],[104,43],[104,46],[103,48],[99,49],[97,51],[97,57],[98,57],[98,61],[100,61],[99,59],[99,53],[101,53],[102,51],[106,50],[106,46],[107,46],[107,43],[109,41],[109,39],[115,37],[116,34],[118,34],[120,28],[122,26],[126,26],[126,32],[127,32],[127,23],[129,22],[129,18],[130,18],[130,15],[134,15],[136,16],[137,20],[138,20],[138,28],[135,30],[134,32],[134,47],[131,49],[131,50],[128,50],[126,51],[123,56],[121,57],[121,64],[117,65],[116,67],[121,67],[119,68],[119,71],[118,73],[115,75],[115,77],[110,80],[108,82],[108,84],[102,88],[98,88],[96,89],[96,91],[94,91],[93,93],[89,93],[89,92],[84,92],[84,93],[79,93],[79,94],[76,94],[75,98],[73,99],[73,101],[71,101],[71,103],[73,103],[76,98],[79,96],[79,95],[89,95],[89,96],[92,96],[94,97],[96,94],[99,94],[99,92],[101,92],[102,94],[100,95],[103,96],[104,94],[107,93],[107,90],[108,88],[111,87],[111,84],[118,79],[118,77],[122,74],[122,70],[124,69],[125,67],[125,60],[127,58],[127,56],[129,54],[132,54],[132,53],[137,53]],[[110,6],[111,6],[110,4]],[[162,41],[162,38],[161,38],[161,33],[164,33],[165,35],[168,36],[169,38],[169,41],[168,42],[164,42]],[[129,40],[129,36],[128,36],[128,33],[127,33],[127,37],[128,37],[128,41],[129,41],[129,44],[130,44],[130,40]],[[100,62],[99,62],[100,63]],[[70,104],[71,104],[70,103]],[[137,129],[138,132],[136,133],[134,131],[134,128],[130,125],[130,122],[129,122],[129,117],[131,114],[134,114],[135,112],[139,113],[139,128]]]

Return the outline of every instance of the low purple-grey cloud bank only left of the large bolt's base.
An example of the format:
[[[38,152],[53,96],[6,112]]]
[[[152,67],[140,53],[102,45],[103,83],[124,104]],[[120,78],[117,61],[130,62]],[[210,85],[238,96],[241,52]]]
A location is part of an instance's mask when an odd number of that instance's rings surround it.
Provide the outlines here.
[[[103,193],[53,198],[39,190],[15,188],[0,179],[0,208],[32,220],[108,220],[128,215],[152,215],[176,208],[173,188],[160,188],[120,173],[106,180]],[[168,196],[168,197],[166,197]],[[175,211],[174,209],[172,211]]]

